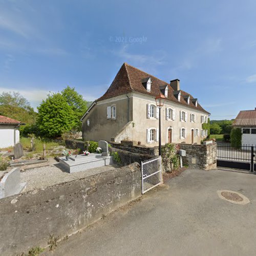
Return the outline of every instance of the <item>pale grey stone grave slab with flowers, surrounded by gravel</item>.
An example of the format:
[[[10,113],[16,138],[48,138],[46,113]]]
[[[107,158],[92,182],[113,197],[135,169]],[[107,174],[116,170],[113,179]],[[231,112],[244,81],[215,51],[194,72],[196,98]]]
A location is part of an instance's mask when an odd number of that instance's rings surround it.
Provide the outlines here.
[[[69,160],[66,157],[59,158],[60,165],[69,173],[81,172],[95,167],[101,167],[112,164],[111,156],[101,156],[101,154],[91,153],[89,156],[77,155],[70,156]]]

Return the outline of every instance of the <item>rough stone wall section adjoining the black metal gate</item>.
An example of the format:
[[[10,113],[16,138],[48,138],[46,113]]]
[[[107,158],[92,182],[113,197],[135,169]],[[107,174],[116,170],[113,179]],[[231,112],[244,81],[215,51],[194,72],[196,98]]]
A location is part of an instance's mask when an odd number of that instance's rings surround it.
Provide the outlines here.
[[[182,157],[183,164],[190,168],[216,169],[217,168],[217,143],[208,145],[179,144],[181,150],[186,151],[186,157]]]

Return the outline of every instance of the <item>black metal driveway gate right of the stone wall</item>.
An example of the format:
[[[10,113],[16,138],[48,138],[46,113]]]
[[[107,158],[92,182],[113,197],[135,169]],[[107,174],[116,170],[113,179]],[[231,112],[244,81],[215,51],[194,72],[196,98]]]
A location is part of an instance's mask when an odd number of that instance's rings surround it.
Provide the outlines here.
[[[243,145],[234,148],[229,144],[217,145],[217,166],[256,172],[255,154],[256,146]]]

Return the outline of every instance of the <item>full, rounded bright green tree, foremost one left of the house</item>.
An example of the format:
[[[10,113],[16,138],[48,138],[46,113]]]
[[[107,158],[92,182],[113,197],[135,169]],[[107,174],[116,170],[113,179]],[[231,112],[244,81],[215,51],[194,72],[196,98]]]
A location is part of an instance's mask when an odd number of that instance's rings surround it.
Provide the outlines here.
[[[61,93],[49,94],[37,109],[37,125],[45,136],[60,136],[76,124],[74,111]]]

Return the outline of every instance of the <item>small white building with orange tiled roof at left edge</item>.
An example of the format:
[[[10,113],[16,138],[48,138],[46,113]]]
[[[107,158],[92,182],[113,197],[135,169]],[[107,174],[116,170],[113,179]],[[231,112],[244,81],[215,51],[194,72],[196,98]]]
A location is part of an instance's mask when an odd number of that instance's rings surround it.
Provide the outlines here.
[[[0,115],[0,148],[14,146],[19,142],[19,126],[24,123]]]

